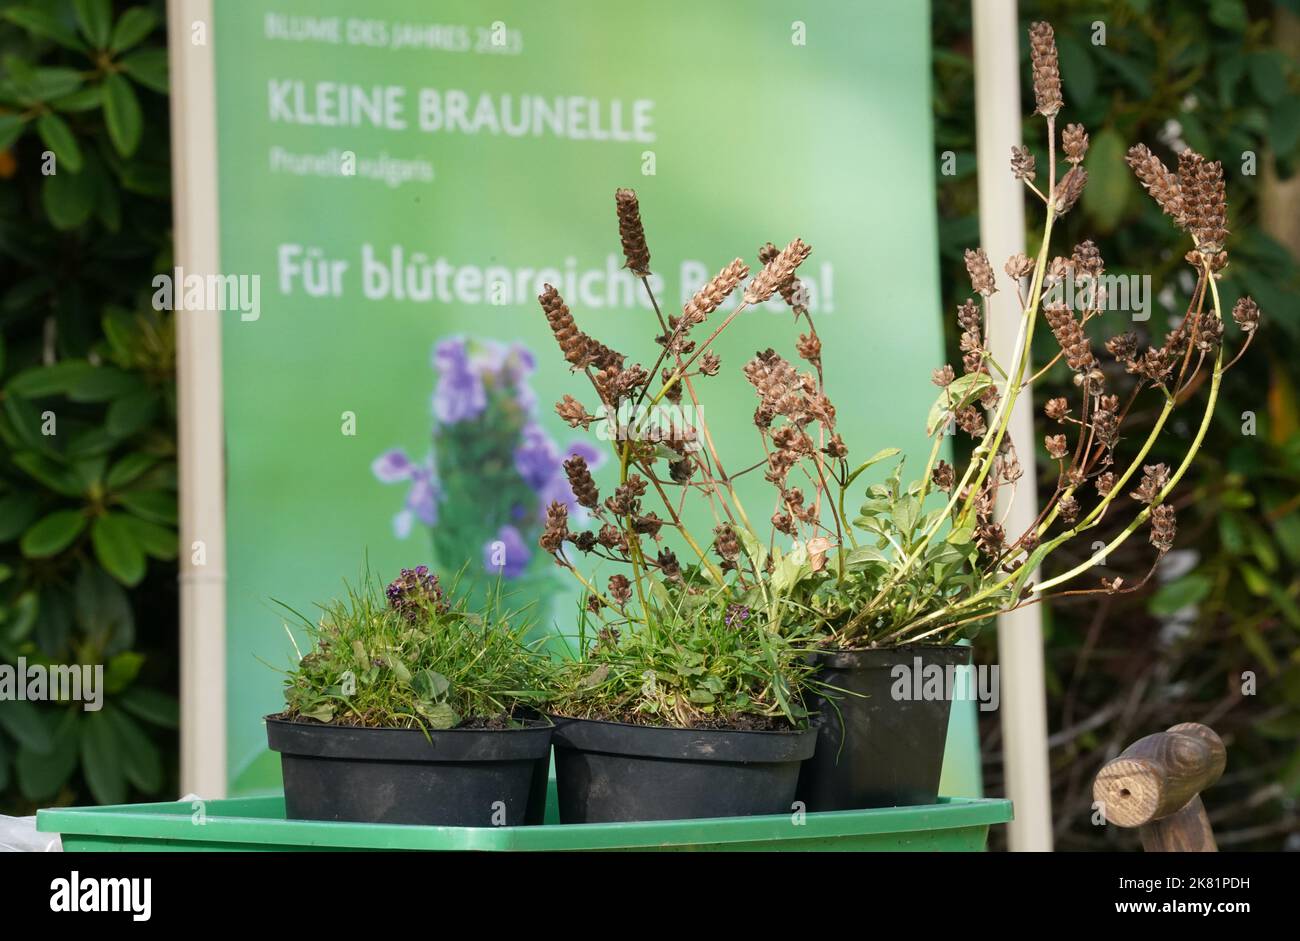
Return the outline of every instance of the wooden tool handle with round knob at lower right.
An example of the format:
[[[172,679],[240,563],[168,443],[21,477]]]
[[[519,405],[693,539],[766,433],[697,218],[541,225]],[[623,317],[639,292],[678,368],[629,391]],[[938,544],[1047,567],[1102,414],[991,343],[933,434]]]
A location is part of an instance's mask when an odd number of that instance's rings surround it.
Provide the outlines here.
[[[1227,750],[1199,723],[1139,738],[1108,762],[1092,797],[1117,827],[1141,827],[1147,850],[1216,851],[1200,793],[1223,773]]]

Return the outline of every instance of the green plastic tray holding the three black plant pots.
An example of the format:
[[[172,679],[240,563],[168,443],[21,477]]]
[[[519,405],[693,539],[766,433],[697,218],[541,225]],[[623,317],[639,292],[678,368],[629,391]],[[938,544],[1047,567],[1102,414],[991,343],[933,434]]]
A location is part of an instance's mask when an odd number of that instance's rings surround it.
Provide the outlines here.
[[[554,785],[554,781],[552,781]],[[554,820],[554,786],[547,795]],[[207,801],[195,823],[187,801],[36,812],[36,829],[60,833],[66,851],[230,850],[875,850],[978,851],[988,828],[1011,819],[1011,802],[940,798],[923,807],[835,814],[655,820],[541,827],[407,827],[286,820],[285,798]]]

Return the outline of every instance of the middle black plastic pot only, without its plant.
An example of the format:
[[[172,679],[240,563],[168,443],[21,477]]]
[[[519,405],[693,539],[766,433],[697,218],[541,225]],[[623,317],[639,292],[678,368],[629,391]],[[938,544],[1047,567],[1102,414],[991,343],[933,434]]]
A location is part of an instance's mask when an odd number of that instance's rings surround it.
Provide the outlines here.
[[[560,823],[789,814],[812,729],[733,732],[555,716]]]

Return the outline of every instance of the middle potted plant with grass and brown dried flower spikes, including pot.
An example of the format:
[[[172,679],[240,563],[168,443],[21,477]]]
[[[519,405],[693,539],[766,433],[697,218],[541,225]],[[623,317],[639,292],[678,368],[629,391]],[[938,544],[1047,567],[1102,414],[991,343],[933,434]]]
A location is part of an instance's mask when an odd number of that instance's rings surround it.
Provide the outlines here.
[[[616,207],[628,266],[659,312],[636,195],[620,190]],[[590,382],[594,408],[566,395],[556,411],[606,439],[619,467],[618,485],[602,494],[584,455],[571,455],[564,470],[584,519],[554,500],[540,538],[585,590],[580,652],[558,672],[551,703],[564,823],[792,807],[800,763],[815,746],[802,706],[811,668],[798,630],[781,628],[770,589],[794,565],[749,524],[707,425],[681,404],[699,415],[697,385],[720,369],[712,341],[789,282],[807,252],[798,239],[774,251],[707,337],[702,325],[749,274],[740,259],[680,316],[659,312],[649,369],[580,330],[554,287],[540,296],[566,360]],[[723,513],[711,541],[686,525],[688,499]],[[598,584],[584,558],[616,571]]]

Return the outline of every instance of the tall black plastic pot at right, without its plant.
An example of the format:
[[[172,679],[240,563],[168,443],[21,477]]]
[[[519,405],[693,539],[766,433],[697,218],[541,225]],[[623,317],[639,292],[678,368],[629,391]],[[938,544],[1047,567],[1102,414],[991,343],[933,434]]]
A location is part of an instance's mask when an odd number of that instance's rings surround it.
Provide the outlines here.
[[[971,649],[826,650],[812,658],[820,665],[814,680],[832,689],[805,697],[818,734],[816,753],[800,773],[806,810],[935,803],[950,680],[971,662]],[[965,686],[958,681],[956,689]]]

